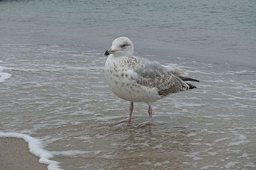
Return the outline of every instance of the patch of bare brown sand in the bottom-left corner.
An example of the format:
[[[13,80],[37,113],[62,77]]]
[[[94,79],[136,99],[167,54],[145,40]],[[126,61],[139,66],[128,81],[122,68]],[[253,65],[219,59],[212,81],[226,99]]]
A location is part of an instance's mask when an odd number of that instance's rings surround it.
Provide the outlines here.
[[[0,138],[0,170],[47,170],[23,139]]]

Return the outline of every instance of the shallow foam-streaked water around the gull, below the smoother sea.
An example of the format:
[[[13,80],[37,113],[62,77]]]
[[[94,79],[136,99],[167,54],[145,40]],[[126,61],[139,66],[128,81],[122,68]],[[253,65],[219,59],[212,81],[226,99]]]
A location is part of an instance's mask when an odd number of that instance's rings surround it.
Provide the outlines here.
[[[43,139],[63,169],[255,167],[253,68],[173,57],[198,88],[155,102],[154,125],[147,105],[135,103],[129,124],[121,121],[129,102],[105,82],[106,58],[84,48],[6,45],[13,52],[1,65],[12,77],[0,86],[1,131]]]

